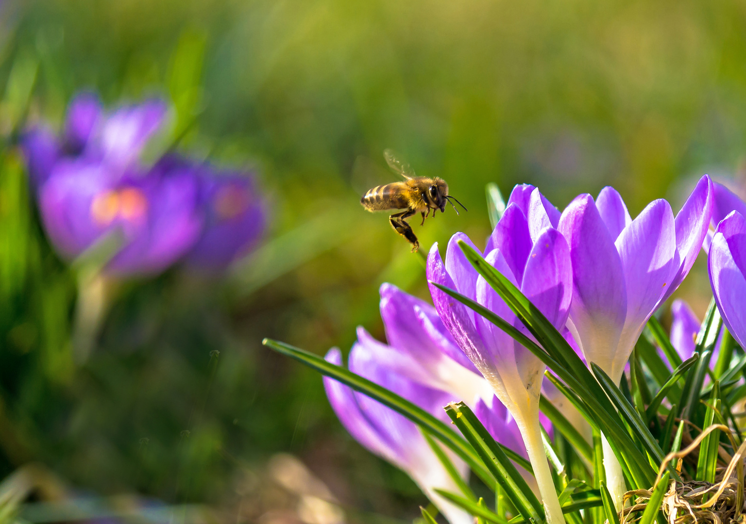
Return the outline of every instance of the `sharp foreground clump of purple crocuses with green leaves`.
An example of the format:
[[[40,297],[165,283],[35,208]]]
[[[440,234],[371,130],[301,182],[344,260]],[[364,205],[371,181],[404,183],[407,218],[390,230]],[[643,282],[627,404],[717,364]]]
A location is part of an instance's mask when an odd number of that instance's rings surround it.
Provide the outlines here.
[[[495,218],[495,230],[486,242],[484,260],[478,259],[480,251],[463,233],[451,238],[445,261],[440,257],[437,244],[430,250],[427,278],[434,312],[427,303],[393,286],[383,286],[381,311],[389,345],[374,341],[360,329],[358,344],[372,344],[366,361],[370,364],[354,367],[361,374],[376,366],[385,367],[387,372],[374,378],[381,385],[386,385],[387,380],[403,378],[418,387],[440,391],[446,397],[461,397],[460,400],[466,403],[471,399],[473,411],[487,431],[474,429],[478,424],[469,418],[470,415],[460,423],[458,416],[451,412],[454,423],[480,454],[484,464],[502,461],[504,465],[507,460],[498,458],[500,453],[488,443],[491,439],[485,436],[486,433],[504,446],[511,449],[520,447],[516,451],[525,452],[524,456],[531,462],[548,523],[563,522],[563,510],[567,514],[576,512],[572,507],[577,506],[568,503],[569,490],[585,491],[584,497],[589,495],[586,473],[601,488],[602,500],[597,500],[595,505],[604,506],[601,518],[605,517],[609,522],[617,517],[634,520],[631,515],[638,511],[645,511],[642,520],[652,521],[661,507],[664,513],[667,511],[665,517],[668,520],[680,516],[677,511],[685,511],[695,520],[702,518],[714,522],[717,520],[717,517],[712,517],[715,503],[718,508],[727,509],[718,510],[724,518],[742,515],[742,498],[733,493],[742,493],[742,473],[736,473],[735,468],[746,443],[738,451],[733,449],[735,455],[731,458],[730,452],[722,447],[718,449],[722,435],[711,432],[730,432],[729,440],[739,434],[739,417],[734,418],[734,414],[746,395],[742,386],[736,386],[743,360],[736,362],[731,358],[736,354],[736,345],[733,339],[726,339],[732,334],[742,347],[746,344],[746,308],[742,306],[746,294],[746,203],[724,186],[712,183],[706,175],[698,181],[675,217],[668,202],[658,200],[646,206],[633,220],[621,196],[610,187],[604,188],[595,200],[590,195],[580,195],[561,213],[533,186],[516,186],[507,204],[502,203],[501,197],[495,202],[495,213],[502,212]],[[708,232],[710,224],[714,232]],[[708,251],[709,277],[720,315],[709,314],[700,326],[689,306],[682,300],[674,300],[669,341],[664,340],[665,333],[659,324],[651,324],[656,340],[665,343],[665,347],[670,342],[678,353],[678,356],[670,352],[661,354],[672,365],[669,373],[666,373],[665,365],[661,366],[662,359],[654,352],[649,353],[650,344],[641,344],[640,362],[647,368],[639,366],[636,361],[635,367],[630,369],[633,380],[620,382],[642,329],[689,274],[700,247]],[[495,275],[485,262],[502,277]],[[487,280],[499,291],[494,291]],[[527,304],[525,299],[531,304]],[[510,303],[510,307],[504,300]],[[545,318],[541,318],[539,312]],[[487,318],[492,318],[495,324]],[[725,332],[721,331],[720,318],[727,328]],[[698,334],[702,335],[700,346],[695,342]],[[717,341],[718,336],[721,342]],[[534,344],[536,341],[538,345]],[[265,343],[301,362],[324,369],[329,376],[345,376],[314,363],[318,356],[275,341]],[[693,365],[698,359],[689,356],[697,351],[701,358],[707,358],[710,348],[720,350],[714,369],[712,360],[710,370],[703,365],[703,360]],[[357,349],[353,353],[355,351]],[[577,359],[578,352],[583,355],[581,360]],[[341,362],[338,353],[330,353],[329,358]],[[689,362],[681,364],[683,360]],[[351,358],[351,369],[352,361]],[[586,478],[585,482],[563,479],[567,470],[562,465],[562,458],[554,455],[551,443],[542,441],[539,395],[545,362],[560,377],[559,382],[553,378],[556,391],[545,391],[546,397],[551,399],[561,394],[566,405],[564,411],[549,405],[545,405],[544,410],[555,423],[555,435],[565,439],[560,441],[562,446],[572,443],[577,451],[576,458],[583,454],[588,460],[593,459],[591,471],[589,462],[582,458],[577,462],[573,452],[565,457],[576,467],[582,464],[586,473],[580,476]],[[588,373],[586,365],[594,374]],[[671,374],[674,367],[678,369]],[[480,379],[476,372],[483,378]],[[699,391],[699,385],[708,374],[712,375],[710,385]],[[674,388],[680,379],[686,381],[684,388]],[[327,384],[330,383],[333,382],[327,380]],[[654,384],[659,387],[657,392],[651,390]],[[485,385],[492,388],[496,398],[489,399],[489,393],[484,391]],[[354,387],[383,400],[374,388],[359,383]],[[422,407],[427,406],[425,408],[431,413],[439,413],[429,403],[427,394],[410,395],[411,390],[397,384],[390,385],[390,388],[401,391],[402,396]],[[349,394],[364,398],[362,394],[352,394],[351,391]],[[702,395],[708,396],[709,401],[703,400]],[[332,403],[343,423],[344,417],[349,416],[345,410],[358,409],[366,414],[364,409],[360,409],[359,402],[345,405],[332,400]],[[389,405],[410,420],[431,424],[429,419],[420,419],[405,407],[397,407],[396,403]],[[577,410],[571,412],[568,408]],[[739,409],[738,413],[741,411]],[[468,414],[468,411],[458,412],[464,413]],[[687,420],[678,417],[682,413],[686,413]],[[586,417],[588,427],[585,429],[589,430],[591,426],[594,429],[592,449],[589,447],[589,432],[576,423],[580,417]],[[728,417],[728,420],[721,417]],[[372,423],[371,418],[363,418],[360,427]],[[715,421],[721,423],[718,425]],[[412,467],[406,461],[410,455],[392,458],[393,455],[386,455],[386,452],[376,450],[372,443],[366,443],[365,432],[360,427],[354,428],[349,423],[345,426],[374,452],[386,456],[405,470]],[[692,428],[695,432],[695,435],[689,435],[694,439],[692,444],[680,451],[683,435],[692,432]],[[596,429],[604,438],[598,438]],[[386,435],[390,437],[398,432],[386,429]],[[677,436],[674,438],[674,435]],[[523,446],[519,445],[521,440]],[[443,441],[451,442],[448,438]],[[396,442],[400,446],[416,445],[415,439],[404,438]],[[486,448],[482,443],[487,443]],[[689,464],[684,464],[683,469],[681,462],[676,470],[668,468],[671,457],[686,457],[695,446],[699,446],[697,464],[689,458]],[[665,453],[677,451],[680,454],[669,454],[664,458]],[[560,485],[554,485],[545,452],[557,470]],[[468,455],[461,456],[468,458]],[[600,457],[603,457],[602,464],[598,460]],[[727,464],[727,470],[724,464]],[[721,472],[725,472],[722,480]],[[413,478],[418,475],[410,474]],[[525,496],[525,487],[510,487],[509,479],[516,479],[518,472],[510,468],[504,471],[492,469],[492,474],[498,483],[507,487],[505,493],[512,493],[508,496],[515,508],[521,506],[524,517],[533,518],[532,509],[524,502],[528,500],[534,509],[539,502]],[[603,474],[605,484],[603,477],[598,478]],[[709,488],[692,491],[691,486],[686,486],[689,481]],[[622,496],[627,487],[634,490],[628,492],[627,497],[638,498],[632,507],[625,508]],[[430,487],[424,485],[423,489],[427,491]],[[724,494],[724,490],[731,489],[732,493]],[[517,490],[522,490],[523,495]],[[606,496],[606,490],[610,496]],[[687,499],[695,492],[706,496]],[[639,497],[640,493],[644,496]],[[672,499],[665,502],[668,497]],[[474,516],[489,515],[457,496],[448,499],[468,509]],[[560,500],[563,508],[560,508]],[[656,502],[651,508],[653,500]],[[735,502],[731,504],[731,501]],[[651,513],[649,509],[655,511]],[[588,514],[580,517],[585,519]],[[485,518],[492,518],[495,522],[501,519],[494,514]],[[572,518],[577,520],[578,515]]]

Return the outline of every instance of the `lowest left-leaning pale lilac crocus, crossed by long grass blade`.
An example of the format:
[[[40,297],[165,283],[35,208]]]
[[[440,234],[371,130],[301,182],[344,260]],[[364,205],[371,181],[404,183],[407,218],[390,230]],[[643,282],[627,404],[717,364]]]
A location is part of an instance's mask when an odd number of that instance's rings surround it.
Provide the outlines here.
[[[447,418],[442,406],[454,400],[454,397],[444,391],[412,382],[380,365],[376,353],[377,347],[369,345],[369,341],[358,341],[350,352],[349,369],[394,391],[437,417],[443,420]],[[336,348],[327,353],[326,359],[333,364],[342,365],[342,356]],[[436,488],[453,493],[458,493],[459,490],[430,449],[430,445],[424,440],[416,424],[336,380],[325,377],[324,386],[339,421],[355,440],[369,451],[404,470],[451,524],[471,524],[472,518],[465,511],[435,492]],[[466,478],[466,463],[449,449],[445,449],[445,452],[460,475]]]

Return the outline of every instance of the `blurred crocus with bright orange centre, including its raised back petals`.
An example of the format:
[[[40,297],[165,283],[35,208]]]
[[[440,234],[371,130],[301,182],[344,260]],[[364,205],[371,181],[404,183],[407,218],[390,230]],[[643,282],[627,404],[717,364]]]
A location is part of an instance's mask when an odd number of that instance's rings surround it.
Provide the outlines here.
[[[25,136],[42,221],[63,258],[110,239],[119,247],[107,274],[154,274],[195,244],[203,221],[195,168],[168,159],[140,165],[165,115],[163,102],[147,101],[107,116],[83,94],[70,104],[60,139],[43,127]]]

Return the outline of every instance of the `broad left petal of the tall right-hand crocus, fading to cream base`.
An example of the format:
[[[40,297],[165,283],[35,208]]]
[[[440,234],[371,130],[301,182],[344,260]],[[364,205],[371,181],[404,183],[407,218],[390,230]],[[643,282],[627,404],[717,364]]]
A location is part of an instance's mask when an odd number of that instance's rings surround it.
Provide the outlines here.
[[[607,361],[627,316],[627,288],[621,259],[591,195],[580,195],[560,218],[570,248],[573,298],[570,315],[589,362]]]

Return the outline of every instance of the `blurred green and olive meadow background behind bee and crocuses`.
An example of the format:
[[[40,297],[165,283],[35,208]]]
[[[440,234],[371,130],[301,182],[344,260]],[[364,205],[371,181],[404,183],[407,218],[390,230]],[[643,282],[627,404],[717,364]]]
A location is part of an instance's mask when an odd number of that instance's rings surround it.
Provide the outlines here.
[[[81,90],[169,101],[175,149],[253,169],[267,202],[263,241],[220,274],[116,282],[84,363],[80,274],[16,147]],[[415,484],[260,342],[347,351],[358,325],[383,339],[382,282],[427,297],[421,257],[359,203],[397,178],[383,150],[469,209],[413,220],[425,250],[483,245],[489,182],[676,211],[703,173],[745,173],[746,4],[4,0],[0,95],[0,502],[26,502],[0,520],[409,522]],[[677,296],[703,314],[702,257]]]

